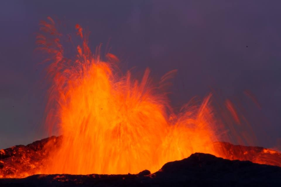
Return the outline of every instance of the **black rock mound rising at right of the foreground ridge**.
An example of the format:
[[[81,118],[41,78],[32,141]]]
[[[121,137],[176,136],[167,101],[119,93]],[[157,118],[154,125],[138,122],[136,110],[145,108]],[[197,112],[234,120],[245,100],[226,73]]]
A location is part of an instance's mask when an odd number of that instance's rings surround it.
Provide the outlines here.
[[[171,182],[191,180],[225,186],[274,186],[281,185],[281,168],[250,161],[227,160],[210,154],[195,153],[181,161],[168,162],[161,172],[155,173]]]

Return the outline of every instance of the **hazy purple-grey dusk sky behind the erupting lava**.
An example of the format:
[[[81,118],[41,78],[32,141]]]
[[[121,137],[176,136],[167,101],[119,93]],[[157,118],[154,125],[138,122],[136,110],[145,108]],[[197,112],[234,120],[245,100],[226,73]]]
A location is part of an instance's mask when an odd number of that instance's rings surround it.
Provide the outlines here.
[[[43,127],[46,66],[35,51],[48,16],[90,30],[92,50],[109,43],[121,69],[156,80],[177,69],[174,108],[216,90],[242,103],[259,146],[281,144],[281,2],[259,1],[1,1],[0,149],[47,137]],[[255,96],[258,107],[247,95]]]

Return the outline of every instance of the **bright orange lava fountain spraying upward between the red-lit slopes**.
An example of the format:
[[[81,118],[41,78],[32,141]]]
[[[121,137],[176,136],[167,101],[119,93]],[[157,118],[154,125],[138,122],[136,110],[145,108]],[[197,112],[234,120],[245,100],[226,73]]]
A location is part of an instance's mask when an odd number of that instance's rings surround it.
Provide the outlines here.
[[[42,22],[37,42],[52,60],[47,124],[63,135],[61,146],[50,153],[42,173],[127,174],[157,171],[163,164],[194,152],[216,154],[210,96],[202,104],[186,105],[174,114],[161,85],[174,73],[152,84],[147,69],[140,81],[120,73],[117,57],[102,61],[92,54],[87,35],[76,25],[75,59],[66,59],[51,18]],[[49,35],[46,37],[46,34]]]

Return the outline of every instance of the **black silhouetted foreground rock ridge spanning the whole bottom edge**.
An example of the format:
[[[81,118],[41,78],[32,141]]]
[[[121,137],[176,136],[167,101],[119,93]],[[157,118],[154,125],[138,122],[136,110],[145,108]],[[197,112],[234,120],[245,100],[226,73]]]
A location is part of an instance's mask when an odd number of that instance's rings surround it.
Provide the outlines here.
[[[195,153],[168,162],[154,174],[33,175],[0,179],[0,186],[280,186],[281,167]],[[148,174],[148,175],[146,175]]]

